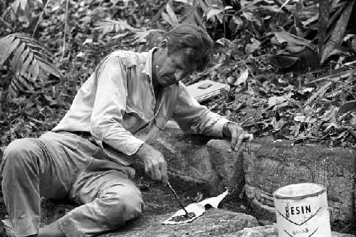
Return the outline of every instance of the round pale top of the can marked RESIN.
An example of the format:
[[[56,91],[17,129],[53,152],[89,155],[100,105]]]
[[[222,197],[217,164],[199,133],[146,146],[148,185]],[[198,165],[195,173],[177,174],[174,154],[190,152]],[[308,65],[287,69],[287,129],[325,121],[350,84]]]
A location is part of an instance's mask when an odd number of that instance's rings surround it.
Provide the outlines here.
[[[273,196],[277,199],[304,199],[306,197],[323,194],[325,190],[325,187],[320,184],[290,184],[274,191]]]

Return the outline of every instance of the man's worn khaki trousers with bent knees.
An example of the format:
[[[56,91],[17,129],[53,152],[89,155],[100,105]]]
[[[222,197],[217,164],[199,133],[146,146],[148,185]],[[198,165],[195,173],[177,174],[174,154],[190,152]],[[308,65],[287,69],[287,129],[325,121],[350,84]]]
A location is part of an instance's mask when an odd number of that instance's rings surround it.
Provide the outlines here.
[[[38,233],[41,196],[81,204],[60,218],[68,237],[95,236],[141,214],[132,167],[110,162],[100,147],[69,132],[11,142],[1,163],[4,202],[16,236]]]

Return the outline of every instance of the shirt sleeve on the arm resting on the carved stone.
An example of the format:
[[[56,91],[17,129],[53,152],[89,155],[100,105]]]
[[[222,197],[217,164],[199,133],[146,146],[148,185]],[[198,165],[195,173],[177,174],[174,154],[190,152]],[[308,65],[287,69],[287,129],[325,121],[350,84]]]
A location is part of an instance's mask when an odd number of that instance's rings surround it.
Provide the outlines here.
[[[182,83],[179,83],[177,104],[172,118],[184,132],[214,137],[223,137],[223,126],[229,122],[225,117],[200,105]]]

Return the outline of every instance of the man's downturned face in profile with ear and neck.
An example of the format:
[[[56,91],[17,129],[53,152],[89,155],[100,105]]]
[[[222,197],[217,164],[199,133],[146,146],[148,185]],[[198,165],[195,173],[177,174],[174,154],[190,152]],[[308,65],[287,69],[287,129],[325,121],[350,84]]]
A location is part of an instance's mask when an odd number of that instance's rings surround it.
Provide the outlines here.
[[[155,67],[156,83],[164,87],[177,83],[195,70],[195,65],[184,61],[182,53],[168,55],[167,48],[161,48]]]

